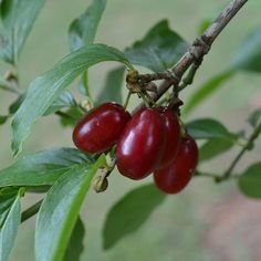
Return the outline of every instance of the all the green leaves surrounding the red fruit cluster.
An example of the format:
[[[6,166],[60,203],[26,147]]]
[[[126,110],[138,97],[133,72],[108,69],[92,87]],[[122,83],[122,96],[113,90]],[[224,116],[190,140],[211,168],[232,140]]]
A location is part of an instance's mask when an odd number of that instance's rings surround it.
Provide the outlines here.
[[[142,40],[119,51],[114,46],[95,43],[100,21],[106,8],[105,0],[93,0],[90,7],[69,28],[71,52],[53,67],[35,77],[22,91],[19,86],[18,60],[25,40],[39,15],[44,0],[2,0],[0,1],[0,58],[12,67],[12,79],[0,77],[0,91],[10,91],[18,96],[9,105],[8,115],[0,115],[0,125],[12,118],[12,153],[19,155],[33,125],[43,116],[61,116],[63,126],[75,124],[94,104],[105,101],[123,102],[122,87],[126,70],[143,66],[153,72],[165,72],[179,61],[188,49],[188,43],[173,31],[167,20],[156,23]],[[201,28],[210,24],[203,21]],[[232,62],[223,72],[213,75],[185,102],[181,115],[188,115],[197,106],[219,91],[225,83],[240,71],[261,72],[261,30],[260,27],[239,44]],[[94,101],[92,86],[88,85],[88,69],[102,62],[117,62],[106,75],[102,92]],[[67,91],[73,81],[80,79],[80,94],[87,104],[79,102]],[[76,95],[75,95],[76,96]],[[166,95],[167,100],[167,95]],[[163,101],[165,101],[163,98]],[[261,108],[252,112],[249,124],[250,137],[244,130],[229,130],[215,118],[197,118],[185,124],[188,133],[200,143],[200,163],[213,159],[232,147],[241,147],[242,154],[254,147],[261,133]],[[43,119],[44,121],[44,119]],[[111,152],[113,155],[113,152]],[[240,159],[236,158],[234,164]],[[6,261],[14,244],[21,222],[21,198],[27,192],[43,194],[40,209],[35,209],[35,258],[36,261],[80,260],[83,250],[84,223],[80,209],[90,189],[93,177],[100,169],[107,167],[105,155],[88,155],[75,148],[52,148],[23,156],[0,170],[0,260]],[[251,198],[261,198],[261,164],[255,163],[233,174],[215,176],[223,181],[231,177],[239,189]],[[199,169],[196,176],[208,176]],[[103,247],[109,249],[119,240],[135,232],[164,202],[166,195],[153,185],[145,185],[128,191],[108,211],[103,229]],[[140,200],[145,199],[145,200]]]

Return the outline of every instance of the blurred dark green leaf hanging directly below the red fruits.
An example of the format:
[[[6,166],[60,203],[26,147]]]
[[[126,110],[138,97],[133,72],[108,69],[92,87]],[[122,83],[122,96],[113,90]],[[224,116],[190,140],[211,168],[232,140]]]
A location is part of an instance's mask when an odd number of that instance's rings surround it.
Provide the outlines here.
[[[109,249],[135,232],[165,199],[155,185],[145,185],[124,196],[108,211],[103,228],[103,248]]]

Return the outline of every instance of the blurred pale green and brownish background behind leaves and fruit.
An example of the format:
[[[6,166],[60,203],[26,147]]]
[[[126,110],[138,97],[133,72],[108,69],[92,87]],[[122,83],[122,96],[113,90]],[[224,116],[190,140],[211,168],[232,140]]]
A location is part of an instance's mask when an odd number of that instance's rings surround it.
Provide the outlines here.
[[[90,2],[46,1],[21,54],[19,72],[24,88],[35,76],[49,70],[69,53],[66,33],[70,22],[79,17]],[[200,22],[203,19],[215,18],[228,2],[228,0],[109,0],[100,24],[96,42],[123,50],[135,40],[143,38],[149,28],[164,18],[169,20],[171,29],[192,42],[198,35]],[[230,63],[242,39],[254,27],[261,24],[260,10],[259,0],[249,1],[221,33],[205,59],[195,84],[185,91],[185,102],[194,88],[221,72]],[[94,95],[97,95],[103,86],[108,67],[111,64],[96,65],[90,70],[90,85]],[[0,63],[1,73],[7,69],[6,64]],[[185,121],[209,116],[221,121],[231,130],[246,128],[248,114],[261,106],[260,84],[259,74],[238,73]],[[14,97],[12,94],[0,93],[1,115],[7,113],[8,105]],[[13,160],[10,150],[10,122],[0,127],[1,168]],[[23,154],[50,147],[73,146],[71,133],[72,129],[60,126],[55,116],[44,117],[33,128]],[[202,169],[221,173],[229,165],[234,153],[237,148],[219,159],[205,164]],[[255,150],[246,155],[237,170],[240,171],[249,163],[259,160],[260,155],[261,142],[259,140]],[[147,181],[150,181],[149,178],[143,182]],[[241,196],[232,181],[216,185],[207,178],[195,178],[184,192],[169,196],[144,227],[113,249],[103,251],[102,228],[107,210],[126,191],[143,182],[127,180],[114,173],[106,192],[96,195],[90,191],[82,209],[86,226],[82,260],[261,260],[259,247],[261,201]],[[23,207],[35,200],[35,195],[28,196],[23,200]],[[10,261],[34,260],[34,221],[32,219],[20,227]]]

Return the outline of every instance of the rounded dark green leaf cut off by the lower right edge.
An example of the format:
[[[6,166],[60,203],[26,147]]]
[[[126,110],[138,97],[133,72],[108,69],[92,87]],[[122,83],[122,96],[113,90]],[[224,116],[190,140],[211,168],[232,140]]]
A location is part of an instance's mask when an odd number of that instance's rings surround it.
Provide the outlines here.
[[[250,166],[238,179],[240,190],[250,198],[261,198],[261,163]]]

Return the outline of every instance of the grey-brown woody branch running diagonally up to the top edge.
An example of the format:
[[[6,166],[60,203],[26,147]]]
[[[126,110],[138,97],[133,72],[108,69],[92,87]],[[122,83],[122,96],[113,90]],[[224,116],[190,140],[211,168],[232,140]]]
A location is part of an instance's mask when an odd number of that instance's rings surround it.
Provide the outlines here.
[[[161,95],[171,86],[177,86],[184,73],[192,64],[197,64],[209,52],[213,41],[221,33],[230,20],[238,13],[248,0],[232,0],[230,4],[219,14],[205,33],[195,40],[189,50],[184,54],[179,62],[169,71],[175,77],[165,80],[158,87],[157,94],[153,94],[154,101],[158,101]],[[194,72],[195,75],[196,71]]]

